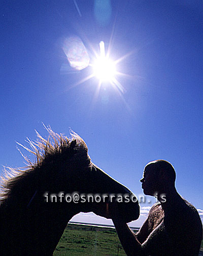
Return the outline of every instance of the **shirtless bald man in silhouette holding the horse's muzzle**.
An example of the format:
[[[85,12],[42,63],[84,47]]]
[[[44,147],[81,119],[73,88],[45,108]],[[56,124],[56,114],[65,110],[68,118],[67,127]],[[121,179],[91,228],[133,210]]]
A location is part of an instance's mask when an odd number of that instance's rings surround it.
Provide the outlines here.
[[[128,256],[197,256],[202,223],[196,209],[175,188],[176,173],[171,163],[156,160],[145,166],[142,188],[160,203],[152,206],[137,235],[122,221],[118,208],[112,220]]]

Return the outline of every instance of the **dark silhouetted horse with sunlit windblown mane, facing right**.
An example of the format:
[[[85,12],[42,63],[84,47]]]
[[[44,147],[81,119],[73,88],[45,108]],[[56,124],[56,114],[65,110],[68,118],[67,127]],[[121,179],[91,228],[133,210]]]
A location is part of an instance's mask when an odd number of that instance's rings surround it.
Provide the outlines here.
[[[114,204],[109,196],[99,202],[98,198],[84,202],[84,197],[73,202],[70,195],[76,191],[81,198],[87,194],[134,196],[133,201],[120,201],[118,207],[125,222],[139,218],[136,196],[92,163],[87,145],[78,134],[72,132],[68,138],[46,128],[48,139],[36,131],[36,141],[27,139],[29,148],[19,144],[35,155],[35,161],[23,155],[25,168],[5,168],[0,200],[1,255],[51,256],[74,215],[93,212],[111,217],[109,205]],[[62,194],[68,194],[68,200],[59,200]]]

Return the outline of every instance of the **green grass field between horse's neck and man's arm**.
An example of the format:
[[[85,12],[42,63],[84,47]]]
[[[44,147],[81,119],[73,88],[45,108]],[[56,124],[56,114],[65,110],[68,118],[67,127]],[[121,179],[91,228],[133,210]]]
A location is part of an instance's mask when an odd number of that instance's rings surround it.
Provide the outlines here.
[[[115,229],[68,224],[54,251],[54,256],[65,255],[124,256],[126,254]],[[203,240],[199,255],[203,255]]]

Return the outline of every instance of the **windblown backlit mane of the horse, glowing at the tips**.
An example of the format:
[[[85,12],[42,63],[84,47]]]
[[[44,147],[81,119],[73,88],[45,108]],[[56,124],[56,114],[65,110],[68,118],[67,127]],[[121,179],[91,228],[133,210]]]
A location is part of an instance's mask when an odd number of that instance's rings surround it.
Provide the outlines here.
[[[57,163],[68,163],[69,166],[92,166],[91,159],[88,155],[87,145],[77,133],[71,131],[71,138],[68,138],[63,134],[55,133],[50,127],[45,126],[45,128],[49,133],[48,139],[43,138],[37,131],[38,139],[36,141],[27,138],[26,142],[31,149],[17,143],[33,154],[35,160],[32,162],[18,149],[26,160],[26,167],[4,167],[4,173],[1,177],[2,184],[0,187],[1,204],[12,197],[15,193],[15,188],[20,190],[20,188],[23,187],[23,180],[25,180],[24,183],[26,183],[28,176],[31,178],[36,172],[40,173],[41,169],[46,169],[46,166],[52,165],[54,160]],[[28,174],[33,175],[30,176]]]

